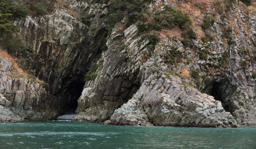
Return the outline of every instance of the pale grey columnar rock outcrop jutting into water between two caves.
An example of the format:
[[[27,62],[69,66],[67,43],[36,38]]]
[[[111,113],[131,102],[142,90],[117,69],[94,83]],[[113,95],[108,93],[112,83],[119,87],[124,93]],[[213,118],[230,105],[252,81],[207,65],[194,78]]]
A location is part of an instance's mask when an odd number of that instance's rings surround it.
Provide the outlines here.
[[[230,127],[236,124],[234,117],[223,109],[220,101],[189,87],[180,86],[181,79],[162,74],[168,66],[159,55],[143,63],[141,57],[149,50],[146,46],[149,41],[136,42],[141,37],[131,40],[130,37],[134,36],[136,30],[133,25],[123,31],[123,34],[118,34],[117,30],[112,33],[108,40],[109,50],[104,55],[106,58],[103,68],[95,81],[88,82],[79,98],[76,110],[78,114],[73,120],[102,122],[110,118],[107,124],[142,126],[202,123],[202,127],[207,127],[212,125],[209,123],[219,123],[222,127]],[[131,44],[129,48],[124,48],[122,42]],[[156,50],[160,49],[155,49],[155,52]],[[114,68],[117,70],[113,70]],[[137,80],[132,79],[134,76]],[[129,91],[129,86],[122,86],[124,79],[117,78],[128,78],[136,86],[140,85],[140,88],[137,92],[135,90],[136,93],[130,90],[135,93],[132,98],[113,112],[122,105],[122,101],[127,100],[122,97]],[[108,91],[113,89],[115,92]],[[117,99],[115,105],[111,105],[108,100],[114,99],[113,97]],[[95,99],[98,99],[97,102]]]

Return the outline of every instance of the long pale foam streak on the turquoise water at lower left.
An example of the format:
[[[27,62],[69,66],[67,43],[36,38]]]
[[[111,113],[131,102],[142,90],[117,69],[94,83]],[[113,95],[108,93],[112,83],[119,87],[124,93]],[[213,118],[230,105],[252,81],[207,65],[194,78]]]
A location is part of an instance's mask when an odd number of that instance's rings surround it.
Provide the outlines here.
[[[33,135],[94,135],[94,136],[104,136],[109,134],[118,133],[100,133],[100,132],[51,132],[51,131],[41,131],[41,132],[26,132],[26,133],[0,133],[1,137],[6,136],[27,136],[31,137]]]

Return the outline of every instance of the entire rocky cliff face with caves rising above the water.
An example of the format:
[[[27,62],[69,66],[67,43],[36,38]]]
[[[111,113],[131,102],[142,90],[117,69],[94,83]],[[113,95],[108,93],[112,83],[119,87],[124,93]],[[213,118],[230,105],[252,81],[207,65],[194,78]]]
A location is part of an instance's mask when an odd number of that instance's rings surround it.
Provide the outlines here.
[[[250,6],[241,1],[150,2],[142,24],[149,26],[154,15],[160,18],[167,9],[181,10],[175,12],[191,18],[197,37],[187,42],[189,29],[175,23],[155,34],[150,27],[142,32],[140,20],[127,23],[126,16],[107,36],[112,1],[64,2],[68,10],[56,8],[51,15],[15,21],[17,34],[26,41],[20,56],[49,85],[31,87],[26,79],[10,78],[9,86],[26,86],[0,92],[2,107],[16,115],[15,121],[51,119],[77,106],[74,121],[185,127],[256,124],[254,1]],[[106,36],[107,49],[102,50]],[[6,74],[11,64],[2,61]],[[5,78],[2,82],[8,82]],[[17,98],[24,94],[27,100],[15,105],[16,92]]]

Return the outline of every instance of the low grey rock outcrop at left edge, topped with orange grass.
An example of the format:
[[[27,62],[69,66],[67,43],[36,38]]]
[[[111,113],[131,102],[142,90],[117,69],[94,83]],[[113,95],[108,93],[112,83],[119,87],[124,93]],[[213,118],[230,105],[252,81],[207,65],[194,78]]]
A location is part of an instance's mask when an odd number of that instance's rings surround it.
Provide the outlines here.
[[[12,63],[0,57],[0,123],[56,118],[62,104],[42,84],[15,77]]]

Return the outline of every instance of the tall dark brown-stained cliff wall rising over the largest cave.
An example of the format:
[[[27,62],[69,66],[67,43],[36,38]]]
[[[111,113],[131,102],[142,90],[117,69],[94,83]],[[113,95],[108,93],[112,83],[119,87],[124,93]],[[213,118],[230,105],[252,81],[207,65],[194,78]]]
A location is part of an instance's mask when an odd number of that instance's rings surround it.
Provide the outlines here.
[[[81,95],[84,73],[99,58],[108,14],[105,0],[64,2],[69,11],[57,8],[51,15],[15,21],[27,47],[21,57],[49,84],[50,93],[63,100],[63,110]]]

